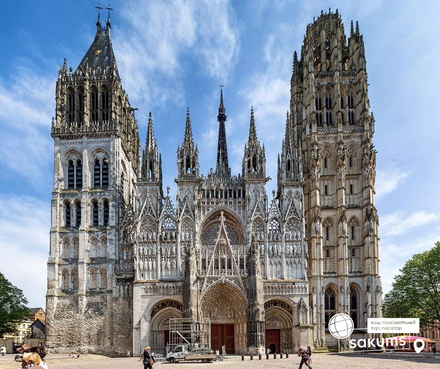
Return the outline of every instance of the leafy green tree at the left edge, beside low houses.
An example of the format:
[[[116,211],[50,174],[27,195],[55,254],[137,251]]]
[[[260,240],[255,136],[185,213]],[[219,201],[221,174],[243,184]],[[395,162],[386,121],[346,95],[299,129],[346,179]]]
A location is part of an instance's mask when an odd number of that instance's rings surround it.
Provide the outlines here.
[[[29,315],[23,291],[0,272],[0,337],[14,334],[17,324]]]

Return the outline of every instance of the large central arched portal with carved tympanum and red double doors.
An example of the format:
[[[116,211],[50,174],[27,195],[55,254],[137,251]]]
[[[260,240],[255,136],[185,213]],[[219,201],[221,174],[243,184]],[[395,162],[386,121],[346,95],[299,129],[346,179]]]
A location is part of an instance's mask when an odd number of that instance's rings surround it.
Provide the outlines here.
[[[246,352],[246,297],[231,282],[222,279],[202,296],[204,318],[211,320],[211,347],[225,347],[227,354]]]

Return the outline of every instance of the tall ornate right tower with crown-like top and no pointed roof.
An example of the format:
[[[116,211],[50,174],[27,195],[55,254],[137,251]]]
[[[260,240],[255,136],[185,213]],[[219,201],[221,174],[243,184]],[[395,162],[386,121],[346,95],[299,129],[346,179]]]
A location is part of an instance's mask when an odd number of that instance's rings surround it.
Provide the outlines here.
[[[305,179],[314,342],[337,345],[325,333],[332,315],[349,314],[356,328],[381,317],[365,49],[358,23],[347,39],[338,11],[321,12],[307,26],[301,58],[294,53],[287,131]]]

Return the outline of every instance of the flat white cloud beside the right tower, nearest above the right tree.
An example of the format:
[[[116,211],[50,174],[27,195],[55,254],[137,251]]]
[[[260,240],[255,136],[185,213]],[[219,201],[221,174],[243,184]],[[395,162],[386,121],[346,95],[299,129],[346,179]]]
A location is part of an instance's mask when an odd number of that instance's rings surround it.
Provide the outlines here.
[[[408,214],[407,211],[398,210],[392,214],[381,216],[381,236],[400,236],[410,232],[413,228],[436,223],[439,219],[437,214],[426,211],[415,211]]]

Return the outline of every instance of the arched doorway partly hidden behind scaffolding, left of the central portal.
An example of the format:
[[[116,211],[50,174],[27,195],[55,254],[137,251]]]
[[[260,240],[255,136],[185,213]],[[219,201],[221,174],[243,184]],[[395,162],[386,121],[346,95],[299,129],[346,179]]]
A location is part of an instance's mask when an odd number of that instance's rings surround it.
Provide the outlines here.
[[[182,304],[174,300],[158,303],[151,310],[151,352],[165,354],[169,343],[169,319],[182,317]]]

